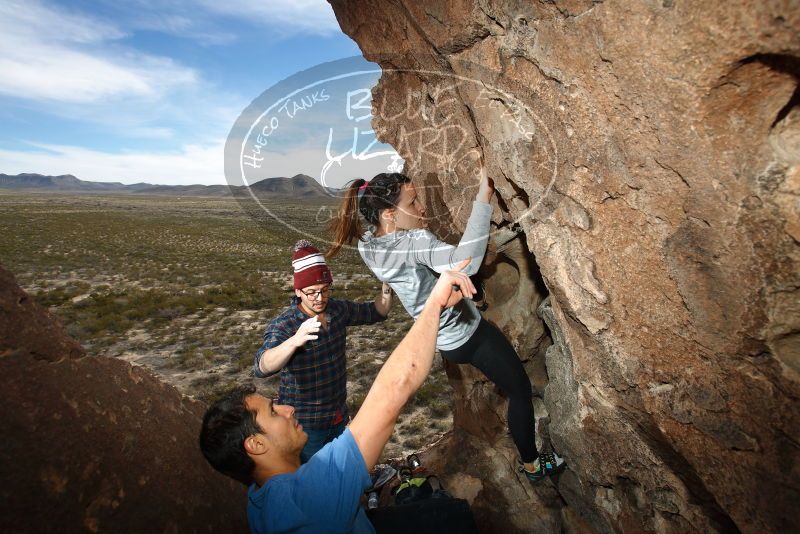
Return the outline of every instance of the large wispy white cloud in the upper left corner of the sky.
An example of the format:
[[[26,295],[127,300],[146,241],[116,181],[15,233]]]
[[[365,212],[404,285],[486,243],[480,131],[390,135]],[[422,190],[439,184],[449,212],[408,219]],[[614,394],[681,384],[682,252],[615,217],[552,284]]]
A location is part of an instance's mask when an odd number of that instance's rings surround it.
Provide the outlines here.
[[[111,42],[124,35],[104,21],[36,1],[3,2],[0,93],[67,103],[152,100],[196,83],[193,70],[169,58],[114,48]]]

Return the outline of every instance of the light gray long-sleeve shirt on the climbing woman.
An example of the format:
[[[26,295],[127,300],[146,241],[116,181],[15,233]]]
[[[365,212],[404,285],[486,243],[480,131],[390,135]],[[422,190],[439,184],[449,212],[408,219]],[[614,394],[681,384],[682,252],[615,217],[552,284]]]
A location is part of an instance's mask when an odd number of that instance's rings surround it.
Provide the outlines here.
[[[358,251],[378,280],[389,284],[406,311],[416,319],[436,285],[435,273],[452,269],[461,260],[472,256],[464,272],[478,272],[486,244],[492,206],[475,201],[467,227],[457,247],[440,241],[428,230],[402,230],[375,237],[366,232],[358,242]],[[442,312],[439,319],[439,350],[454,350],[470,338],[478,328],[481,316],[471,300],[462,300]]]

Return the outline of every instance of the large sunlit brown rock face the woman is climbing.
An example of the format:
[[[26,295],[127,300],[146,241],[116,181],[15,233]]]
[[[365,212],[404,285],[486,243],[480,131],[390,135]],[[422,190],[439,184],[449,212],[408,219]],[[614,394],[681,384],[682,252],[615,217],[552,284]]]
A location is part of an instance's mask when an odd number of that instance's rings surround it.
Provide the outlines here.
[[[502,397],[451,368],[430,460],[484,528],[800,529],[800,2],[331,4],[434,229],[484,161],[523,233],[487,314],[570,469],[560,503],[520,482]]]

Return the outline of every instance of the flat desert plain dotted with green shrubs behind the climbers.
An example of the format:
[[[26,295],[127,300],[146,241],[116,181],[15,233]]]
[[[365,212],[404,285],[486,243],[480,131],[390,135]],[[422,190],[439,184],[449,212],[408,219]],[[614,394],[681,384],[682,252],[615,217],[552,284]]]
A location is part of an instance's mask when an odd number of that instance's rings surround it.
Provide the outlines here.
[[[279,219],[312,239],[325,235],[318,213],[331,206],[269,200]],[[279,375],[254,378],[253,356],[293,295],[290,251],[304,236],[250,218],[232,198],[121,194],[0,192],[0,226],[3,265],[89,355],[144,367],[205,402],[248,382],[277,394]],[[334,298],[364,302],[380,288],[352,250],[331,268]],[[349,330],[351,414],[410,325],[395,299],[385,323]],[[452,427],[452,388],[437,362],[385,457],[418,450]]]

